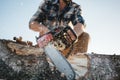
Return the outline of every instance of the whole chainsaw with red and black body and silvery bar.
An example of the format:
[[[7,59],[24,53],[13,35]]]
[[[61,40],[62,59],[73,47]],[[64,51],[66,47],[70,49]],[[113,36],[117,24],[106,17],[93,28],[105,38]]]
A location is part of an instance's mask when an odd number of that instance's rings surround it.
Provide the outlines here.
[[[65,74],[67,80],[74,80],[75,72],[62,51],[71,47],[76,39],[77,36],[70,26],[54,28],[37,38],[39,47],[44,48],[46,55],[51,59],[55,67]]]

